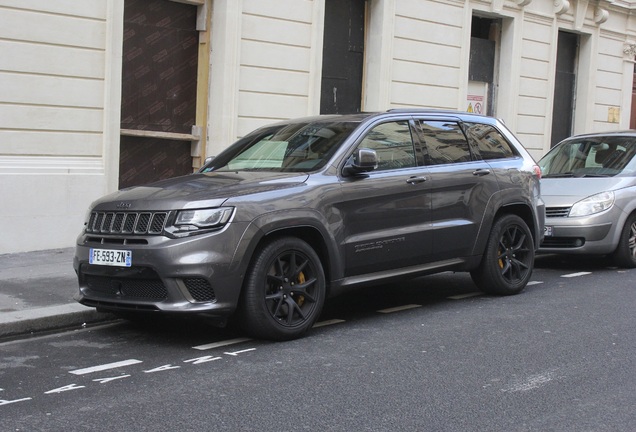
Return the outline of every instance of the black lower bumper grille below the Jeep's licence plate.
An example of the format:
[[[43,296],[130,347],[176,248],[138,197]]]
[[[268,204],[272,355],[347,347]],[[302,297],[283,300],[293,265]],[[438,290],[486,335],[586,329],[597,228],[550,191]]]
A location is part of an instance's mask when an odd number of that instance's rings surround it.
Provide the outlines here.
[[[161,301],[168,291],[161,280],[85,275],[86,287],[105,298]]]

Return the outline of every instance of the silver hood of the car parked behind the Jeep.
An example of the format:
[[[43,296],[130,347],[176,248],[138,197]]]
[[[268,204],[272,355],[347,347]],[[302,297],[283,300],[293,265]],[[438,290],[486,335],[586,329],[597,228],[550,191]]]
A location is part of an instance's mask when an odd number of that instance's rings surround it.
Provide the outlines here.
[[[542,178],[541,198],[546,207],[566,207],[599,192],[633,185],[633,177]]]

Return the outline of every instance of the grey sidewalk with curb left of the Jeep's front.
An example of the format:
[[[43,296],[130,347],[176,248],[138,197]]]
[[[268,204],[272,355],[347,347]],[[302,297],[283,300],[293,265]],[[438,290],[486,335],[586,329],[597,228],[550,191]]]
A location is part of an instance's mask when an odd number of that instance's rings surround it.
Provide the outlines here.
[[[0,255],[0,339],[114,319],[73,300],[73,248]]]

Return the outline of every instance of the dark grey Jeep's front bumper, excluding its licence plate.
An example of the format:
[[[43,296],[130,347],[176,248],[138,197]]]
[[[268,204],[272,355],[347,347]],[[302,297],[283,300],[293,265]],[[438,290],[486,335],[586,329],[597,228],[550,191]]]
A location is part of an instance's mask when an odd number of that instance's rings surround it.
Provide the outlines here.
[[[185,238],[80,235],[75,300],[109,311],[199,313],[226,317],[237,306],[243,264],[234,260],[240,224]],[[233,247],[232,247],[233,246]],[[129,250],[131,267],[89,264],[90,249]]]

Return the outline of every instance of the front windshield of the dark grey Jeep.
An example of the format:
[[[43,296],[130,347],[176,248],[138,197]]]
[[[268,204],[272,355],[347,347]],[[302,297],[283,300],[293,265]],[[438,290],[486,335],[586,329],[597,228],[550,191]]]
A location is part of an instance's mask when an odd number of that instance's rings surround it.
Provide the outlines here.
[[[221,153],[201,172],[315,171],[329,161],[358,123],[292,123],[246,137]]]

